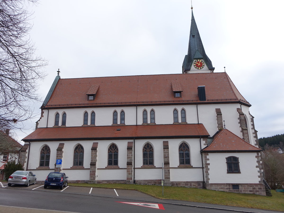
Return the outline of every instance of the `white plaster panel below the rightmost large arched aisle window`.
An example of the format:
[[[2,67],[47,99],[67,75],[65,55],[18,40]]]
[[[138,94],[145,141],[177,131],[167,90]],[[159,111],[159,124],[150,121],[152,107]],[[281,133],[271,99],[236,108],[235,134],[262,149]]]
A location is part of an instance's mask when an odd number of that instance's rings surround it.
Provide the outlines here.
[[[202,168],[171,168],[171,181],[203,181]]]

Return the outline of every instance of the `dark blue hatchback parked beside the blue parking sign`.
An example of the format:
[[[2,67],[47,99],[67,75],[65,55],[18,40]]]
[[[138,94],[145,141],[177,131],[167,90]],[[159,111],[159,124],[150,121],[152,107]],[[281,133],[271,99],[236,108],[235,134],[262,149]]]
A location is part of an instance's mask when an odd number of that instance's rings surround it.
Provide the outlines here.
[[[63,189],[64,186],[68,185],[68,177],[66,177],[65,173],[62,172],[51,172],[48,174],[44,181],[44,188],[46,189],[48,186],[56,186]]]

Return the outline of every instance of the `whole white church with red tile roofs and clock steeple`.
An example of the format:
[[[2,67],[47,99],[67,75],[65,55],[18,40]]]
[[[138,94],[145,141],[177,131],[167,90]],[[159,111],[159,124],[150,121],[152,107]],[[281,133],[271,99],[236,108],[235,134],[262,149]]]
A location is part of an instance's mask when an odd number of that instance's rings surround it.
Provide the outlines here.
[[[60,171],[69,183],[266,195],[251,105],[214,69],[192,12],[180,74],[62,79],[58,71],[20,161],[38,182]]]

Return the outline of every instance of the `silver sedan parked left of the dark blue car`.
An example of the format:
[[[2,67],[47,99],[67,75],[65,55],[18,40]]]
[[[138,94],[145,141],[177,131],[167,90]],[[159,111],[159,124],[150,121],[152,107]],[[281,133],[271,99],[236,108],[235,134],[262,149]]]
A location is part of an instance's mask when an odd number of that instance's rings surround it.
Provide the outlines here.
[[[36,184],[36,175],[30,171],[16,171],[8,179],[8,186],[12,184],[22,184],[28,187],[30,184]]]

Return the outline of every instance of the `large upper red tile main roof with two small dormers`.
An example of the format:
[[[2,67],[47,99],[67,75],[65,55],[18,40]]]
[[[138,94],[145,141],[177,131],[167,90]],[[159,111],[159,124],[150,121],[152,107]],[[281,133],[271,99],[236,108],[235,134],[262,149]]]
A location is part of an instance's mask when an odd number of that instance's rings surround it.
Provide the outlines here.
[[[86,94],[92,85],[99,85],[99,88],[95,100],[88,101]],[[198,86],[205,86],[206,101],[199,101]],[[181,97],[175,98],[173,89],[181,88]],[[227,73],[217,72],[59,79],[45,107],[231,101],[242,101],[250,105]]]

